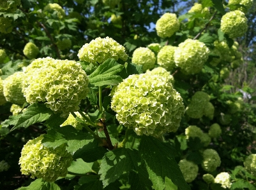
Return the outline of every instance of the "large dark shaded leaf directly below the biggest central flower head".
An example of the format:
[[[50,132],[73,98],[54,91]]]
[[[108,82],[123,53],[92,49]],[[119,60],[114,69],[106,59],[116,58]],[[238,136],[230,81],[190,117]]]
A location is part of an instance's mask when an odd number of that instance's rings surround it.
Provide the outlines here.
[[[153,182],[154,189],[162,190],[165,188],[165,177],[172,180],[178,189],[190,189],[168,144],[154,137],[143,135],[140,141],[139,154],[142,161],[146,163],[149,179]]]

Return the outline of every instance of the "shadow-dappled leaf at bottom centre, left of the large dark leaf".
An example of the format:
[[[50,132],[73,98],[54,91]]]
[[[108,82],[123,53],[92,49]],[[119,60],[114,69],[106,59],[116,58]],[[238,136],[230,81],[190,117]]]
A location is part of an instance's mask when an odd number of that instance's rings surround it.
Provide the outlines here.
[[[119,148],[109,151],[102,159],[99,174],[100,180],[103,182],[103,187],[119,179],[124,172],[128,173],[133,165],[133,158],[138,156],[137,151],[133,149]]]

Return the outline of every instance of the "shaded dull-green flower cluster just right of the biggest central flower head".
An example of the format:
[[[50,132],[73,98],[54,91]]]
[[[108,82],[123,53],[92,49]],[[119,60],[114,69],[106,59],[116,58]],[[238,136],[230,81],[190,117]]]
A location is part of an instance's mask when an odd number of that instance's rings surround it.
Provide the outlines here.
[[[213,119],[213,114],[215,108],[211,102],[209,102],[210,97],[207,93],[198,91],[196,92],[188,107],[186,107],[186,114],[190,118],[199,119],[202,116],[207,116],[210,119]]]

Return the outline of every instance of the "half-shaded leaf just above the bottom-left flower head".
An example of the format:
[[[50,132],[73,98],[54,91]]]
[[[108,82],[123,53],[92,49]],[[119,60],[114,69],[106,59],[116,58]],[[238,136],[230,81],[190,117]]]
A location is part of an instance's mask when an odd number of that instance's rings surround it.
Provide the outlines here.
[[[47,134],[43,136],[42,143],[46,147],[56,148],[66,143],[66,150],[69,153],[75,153],[89,142],[93,141],[93,136],[76,130],[73,126],[55,126],[47,130]]]

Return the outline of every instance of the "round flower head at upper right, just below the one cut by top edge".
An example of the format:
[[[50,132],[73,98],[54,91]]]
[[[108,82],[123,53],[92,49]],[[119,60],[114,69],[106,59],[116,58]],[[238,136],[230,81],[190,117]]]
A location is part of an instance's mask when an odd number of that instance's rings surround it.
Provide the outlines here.
[[[230,38],[241,37],[248,29],[247,18],[242,11],[230,11],[223,15],[220,29]]]

